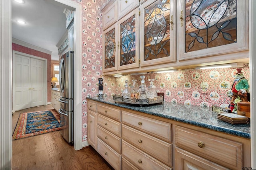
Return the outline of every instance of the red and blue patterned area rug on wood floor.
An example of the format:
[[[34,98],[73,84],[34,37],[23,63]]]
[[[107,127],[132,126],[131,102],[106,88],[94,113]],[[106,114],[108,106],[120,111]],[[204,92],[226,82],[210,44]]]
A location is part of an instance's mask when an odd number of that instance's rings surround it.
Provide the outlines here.
[[[20,113],[12,140],[40,135],[63,129],[60,114],[56,110]]]

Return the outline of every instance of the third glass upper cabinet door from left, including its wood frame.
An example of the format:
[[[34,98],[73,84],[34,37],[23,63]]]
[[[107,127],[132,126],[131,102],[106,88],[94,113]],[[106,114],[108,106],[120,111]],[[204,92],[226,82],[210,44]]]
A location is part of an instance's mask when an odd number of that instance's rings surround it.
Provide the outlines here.
[[[176,61],[174,5],[173,0],[150,0],[140,6],[141,67]]]

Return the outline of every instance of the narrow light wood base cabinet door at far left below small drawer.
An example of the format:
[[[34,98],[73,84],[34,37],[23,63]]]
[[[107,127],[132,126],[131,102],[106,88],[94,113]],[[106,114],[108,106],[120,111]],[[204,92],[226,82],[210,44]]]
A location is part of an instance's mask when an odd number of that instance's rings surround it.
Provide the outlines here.
[[[97,149],[97,117],[96,113],[88,110],[88,143]]]

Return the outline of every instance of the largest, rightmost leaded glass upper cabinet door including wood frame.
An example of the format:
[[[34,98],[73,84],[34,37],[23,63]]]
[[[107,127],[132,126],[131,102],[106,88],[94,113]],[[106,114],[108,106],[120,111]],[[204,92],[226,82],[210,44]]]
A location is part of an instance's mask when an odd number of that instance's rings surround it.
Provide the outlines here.
[[[248,0],[178,0],[178,8],[180,61],[213,55],[220,61],[246,58]]]

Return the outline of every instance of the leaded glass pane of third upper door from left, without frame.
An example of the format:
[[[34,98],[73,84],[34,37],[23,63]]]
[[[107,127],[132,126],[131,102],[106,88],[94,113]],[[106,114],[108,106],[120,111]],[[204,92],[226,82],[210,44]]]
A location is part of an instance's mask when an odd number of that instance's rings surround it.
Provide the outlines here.
[[[144,61],[170,56],[170,0],[144,8]]]

